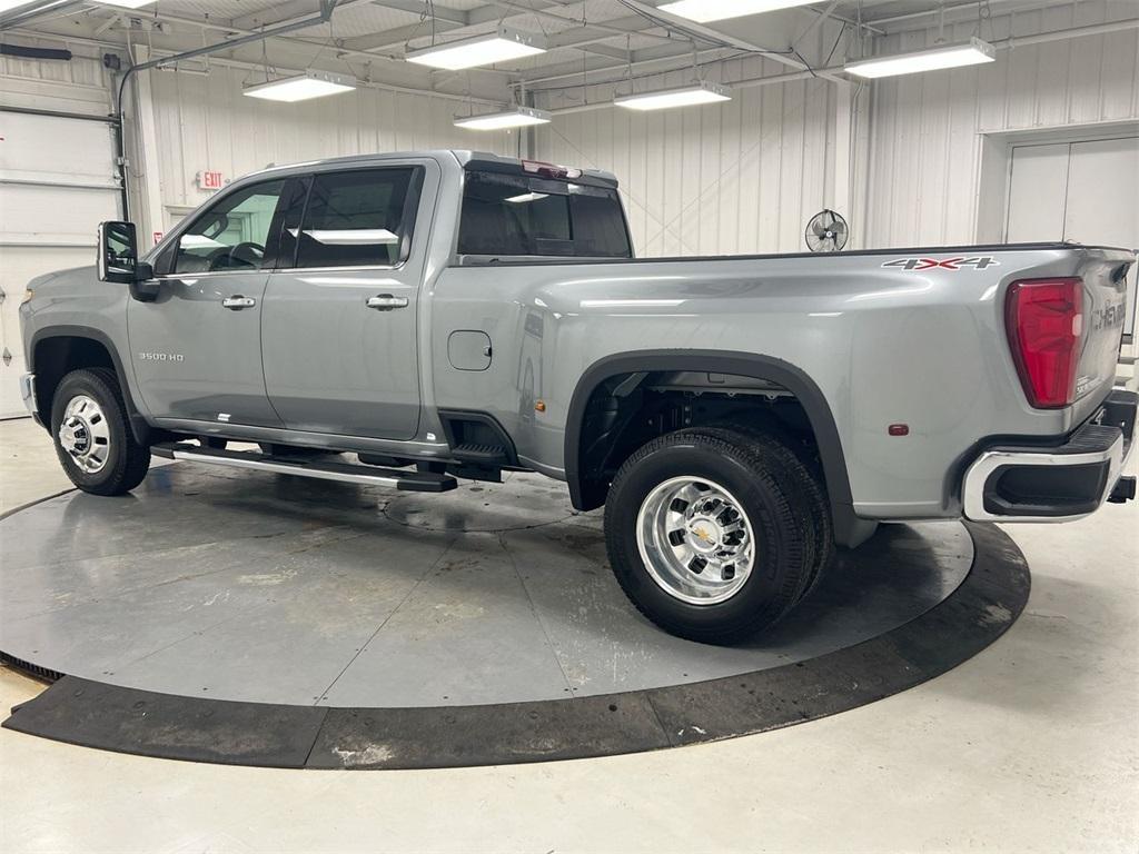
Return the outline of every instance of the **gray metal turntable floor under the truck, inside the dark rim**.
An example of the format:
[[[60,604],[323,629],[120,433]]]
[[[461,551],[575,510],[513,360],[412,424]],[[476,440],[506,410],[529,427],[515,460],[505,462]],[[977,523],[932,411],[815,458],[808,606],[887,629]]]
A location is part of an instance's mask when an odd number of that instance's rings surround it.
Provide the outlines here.
[[[644,619],[598,514],[511,475],[444,495],[190,463],[0,520],[0,650],[95,682],[334,707],[590,697],[778,667],[896,629],[969,572],[959,524],[884,527],[736,648]]]

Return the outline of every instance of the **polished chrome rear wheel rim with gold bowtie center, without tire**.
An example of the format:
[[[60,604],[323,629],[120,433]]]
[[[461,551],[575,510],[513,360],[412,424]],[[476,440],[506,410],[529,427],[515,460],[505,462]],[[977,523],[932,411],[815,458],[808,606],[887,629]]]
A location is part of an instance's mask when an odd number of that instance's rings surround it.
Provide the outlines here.
[[[653,580],[690,605],[730,599],[755,565],[755,534],[743,504],[703,477],[673,477],[646,496],[637,547]]]

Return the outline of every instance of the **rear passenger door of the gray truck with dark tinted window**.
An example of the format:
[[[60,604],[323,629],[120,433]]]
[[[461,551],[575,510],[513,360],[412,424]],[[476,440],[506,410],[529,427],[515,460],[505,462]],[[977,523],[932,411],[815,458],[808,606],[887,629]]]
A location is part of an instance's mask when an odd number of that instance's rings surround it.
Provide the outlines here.
[[[415,437],[416,318],[437,188],[431,161],[319,172],[285,213],[261,335],[269,400],[287,428]]]

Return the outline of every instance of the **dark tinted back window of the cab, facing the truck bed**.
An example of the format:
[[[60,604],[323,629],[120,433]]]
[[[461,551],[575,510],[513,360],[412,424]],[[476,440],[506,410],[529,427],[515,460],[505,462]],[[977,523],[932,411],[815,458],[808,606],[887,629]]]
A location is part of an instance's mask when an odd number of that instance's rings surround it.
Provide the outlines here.
[[[460,255],[632,257],[613,187],[526,174],[467,170]]]

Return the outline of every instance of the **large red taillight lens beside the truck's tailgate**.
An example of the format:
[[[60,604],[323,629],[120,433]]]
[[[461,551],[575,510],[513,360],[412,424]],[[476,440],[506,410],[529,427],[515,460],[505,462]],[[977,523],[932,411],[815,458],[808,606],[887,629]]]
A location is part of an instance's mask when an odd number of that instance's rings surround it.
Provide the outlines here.
[[[1036,409],[1071,404],[1080,362],[1083,281],[1013,282],[1005,302],[1005,323],[1029,403]]]

